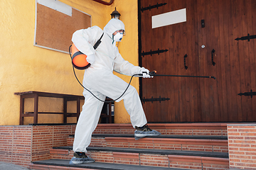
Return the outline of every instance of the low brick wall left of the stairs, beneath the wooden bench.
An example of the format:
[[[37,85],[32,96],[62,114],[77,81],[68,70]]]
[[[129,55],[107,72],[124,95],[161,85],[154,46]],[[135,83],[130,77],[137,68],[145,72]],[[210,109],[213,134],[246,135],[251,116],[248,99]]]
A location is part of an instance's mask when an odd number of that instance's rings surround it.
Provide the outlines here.
[[[75,125],[0,126],[1,162],[28,167],[33,161],[50,159],[49,149],[67,146]]]

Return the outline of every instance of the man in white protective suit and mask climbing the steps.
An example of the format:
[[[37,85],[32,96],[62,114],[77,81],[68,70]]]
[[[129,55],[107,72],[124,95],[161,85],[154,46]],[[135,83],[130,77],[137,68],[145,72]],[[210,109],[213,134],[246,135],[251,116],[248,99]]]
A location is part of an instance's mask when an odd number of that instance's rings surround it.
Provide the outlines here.
[[[85,69],[82,84],[102,101],[105,101],[106,96],[112,99],[119,98],[127,89],[128,84],[115,76],[113,70],[128,76],[142,74],[144,78],[150,78],[148,69],[134,66],[125,61],[119,54],[116,42],[122,40],[123,33],[124,23],[112,18],[103,30],[97,26],[92,26],[77,30],[73,34],[72,41],[74,45],[80,52],[87,55],[87,62],[91,64],[90,67]],[[93,46],[100,38],[100,45],[94,49]],[[104,103],[92,96],[86,89],[82,93],[85,96],[85,104],[82,106],[82,112],[75,129],[73,143],[75,153],[73,159],[70,160],[70,164],[95,162],[92,158],[87,157],[85,153],[87,152],[86,148],[90,145],[92,132],[97,127]],[[147,127],[142,103],[137,90],[133,86],[129,86],[117,102],[121,100],[124,100],[124,107],[130,115],[132,126],[136,129],[135,137],[160,135],[160,132]]]

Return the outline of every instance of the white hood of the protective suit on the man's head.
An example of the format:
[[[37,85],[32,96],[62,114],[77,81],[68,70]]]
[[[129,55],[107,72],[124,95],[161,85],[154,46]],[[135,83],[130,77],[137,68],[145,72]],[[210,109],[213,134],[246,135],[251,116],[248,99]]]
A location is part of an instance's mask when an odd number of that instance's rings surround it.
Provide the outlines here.
[[[124,30],[124,23],[119,19],[112,18],[107,25],[103,28],[103,31],[112,38],[112,34],[116,30]]]

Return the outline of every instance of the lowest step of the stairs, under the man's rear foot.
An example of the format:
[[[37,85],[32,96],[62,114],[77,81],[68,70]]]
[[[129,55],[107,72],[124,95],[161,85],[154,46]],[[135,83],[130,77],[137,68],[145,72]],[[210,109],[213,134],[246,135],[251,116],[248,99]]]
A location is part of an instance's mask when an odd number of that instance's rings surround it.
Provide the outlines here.
[[[104,169],[104,170],[167,170],[170,168],[166,167],[156,167],[156,166],[138,166],[138,165],[129,165],[129,164],[110,164],[95,162],[90,164],[69,164],[69,160],[62,159],[48,159],[38,162],[33,162],[30,164],[30,169],[63,169],[63,170],[78,170],[79,169]],[[171,168],[170,170],[188,170],[188,169],[176,169]]]

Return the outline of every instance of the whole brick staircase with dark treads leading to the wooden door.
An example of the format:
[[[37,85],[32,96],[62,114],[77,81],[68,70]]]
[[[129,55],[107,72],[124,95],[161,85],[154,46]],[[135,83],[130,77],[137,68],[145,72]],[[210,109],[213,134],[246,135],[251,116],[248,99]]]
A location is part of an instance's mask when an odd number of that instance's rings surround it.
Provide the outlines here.
[[[149,124],[162,135],[134,140],[130,124],[99,124],[87,147],[90,164],[69,164],[74,135],[67,146],[50,149],[50,159],[30,169],[229,169],[227,125],[220,123]],[[111,132],[111,133],[110,133]]]

